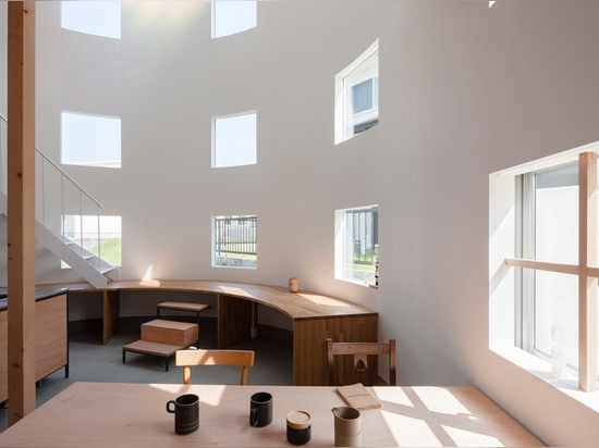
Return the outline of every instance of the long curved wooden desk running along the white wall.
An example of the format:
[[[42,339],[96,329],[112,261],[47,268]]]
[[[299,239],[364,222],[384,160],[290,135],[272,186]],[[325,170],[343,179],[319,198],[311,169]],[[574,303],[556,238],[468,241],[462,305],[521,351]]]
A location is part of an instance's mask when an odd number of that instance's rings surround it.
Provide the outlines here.
[[[56,285],[54,285],[56,286]],[[72,294],[98,291],[88,284],[64,285]],[[280,311],[293,322],[293,383],[327,385],[325,339],[376,341],[378,313],[316,293],[290,293],[278,286],[215,281],[119,281],[103,293],[103,343],[119,327],[121,290],[172,290],[211,294],[218,303],[218,346],[231,347],[250,337],[255,303]]]

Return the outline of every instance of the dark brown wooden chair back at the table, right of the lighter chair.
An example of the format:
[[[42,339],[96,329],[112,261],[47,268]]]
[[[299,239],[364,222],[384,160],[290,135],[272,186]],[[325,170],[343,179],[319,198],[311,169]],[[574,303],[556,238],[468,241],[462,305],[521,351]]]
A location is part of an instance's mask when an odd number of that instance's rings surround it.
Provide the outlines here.
[[[353,362],[344,363],[344,369],[355,370],[357,382],[365,386],[374,386],[377,384],[378,372],[378,356],[383,354],[389,357],[389,385],[396,385],[395,374],[395,339],[389,339],[389,343],[333,343],[331,338],[327,338],[327,365],[330,386],[342,386],[335,379],[335,356],[353,356]],[[370,369],[368,368],[370,364]],[[372,368],[374,364],[374,368]],[[339,377],[339,376],[338,376]]]

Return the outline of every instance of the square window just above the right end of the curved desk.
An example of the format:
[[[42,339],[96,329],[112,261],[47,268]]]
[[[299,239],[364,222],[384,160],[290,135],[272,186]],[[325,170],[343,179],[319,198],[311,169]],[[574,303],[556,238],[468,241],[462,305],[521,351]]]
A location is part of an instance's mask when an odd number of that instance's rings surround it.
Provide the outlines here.
[[[335,210],[335,278],[378,286],[379,208]]]

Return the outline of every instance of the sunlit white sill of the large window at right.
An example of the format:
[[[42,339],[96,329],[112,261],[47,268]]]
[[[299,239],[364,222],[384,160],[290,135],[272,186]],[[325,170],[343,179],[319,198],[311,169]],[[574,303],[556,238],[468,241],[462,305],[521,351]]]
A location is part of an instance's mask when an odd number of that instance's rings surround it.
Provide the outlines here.
[[[551,376],[551,364],[549,362],[517,347],[491,348],[491,350],[582,405],[599,412],[599,391],[587,393],[580,390],[576,376],[566,374],[562,378],[554,378]]]

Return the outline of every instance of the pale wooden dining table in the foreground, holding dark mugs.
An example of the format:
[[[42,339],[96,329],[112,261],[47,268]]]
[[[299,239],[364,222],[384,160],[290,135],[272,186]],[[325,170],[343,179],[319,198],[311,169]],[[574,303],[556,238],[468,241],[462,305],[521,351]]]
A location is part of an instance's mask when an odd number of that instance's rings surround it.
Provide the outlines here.
[[[273,395],[273,420],[249,426],[249,397]],[[542,443],[474,387],[372,387],[381,409],[362,411],[364,446],[541,446]],[[200,397],[199,428],[174,433],[166,403]],[[333,387],[75,383],[0,433],[0,447],[281,447],[290,411],[311,414],[306,447],[333,446]]]

